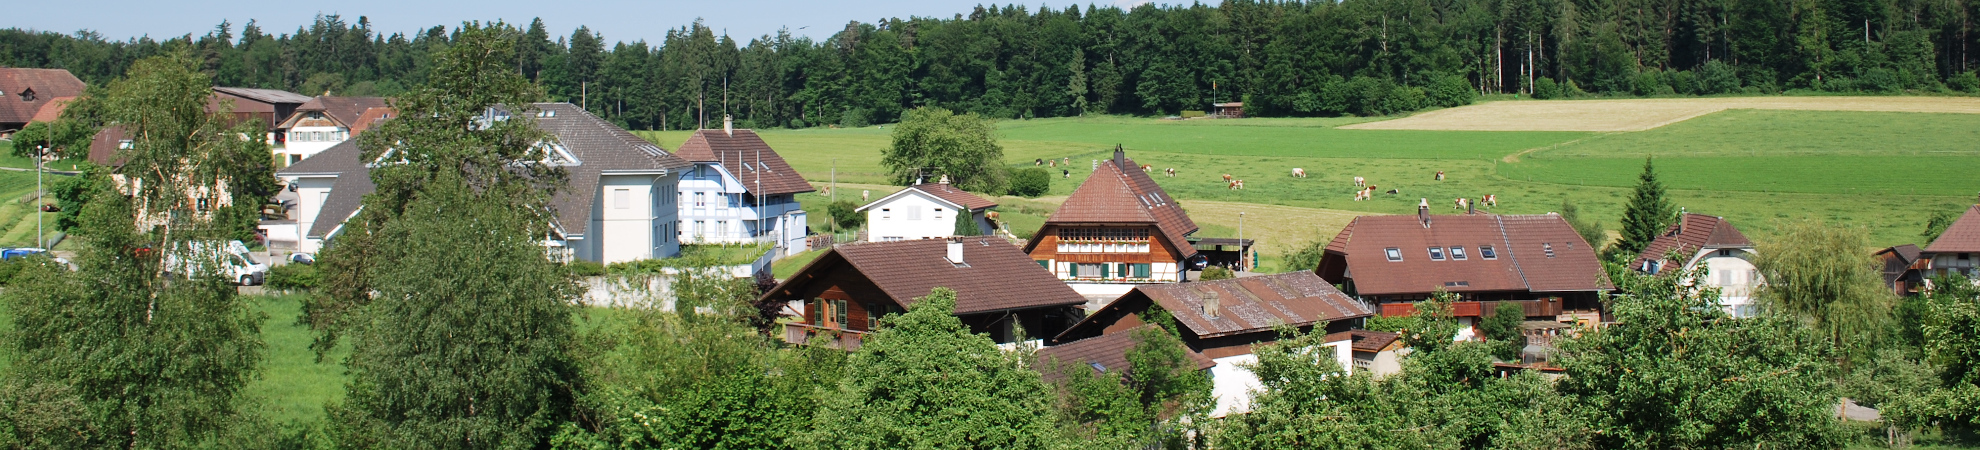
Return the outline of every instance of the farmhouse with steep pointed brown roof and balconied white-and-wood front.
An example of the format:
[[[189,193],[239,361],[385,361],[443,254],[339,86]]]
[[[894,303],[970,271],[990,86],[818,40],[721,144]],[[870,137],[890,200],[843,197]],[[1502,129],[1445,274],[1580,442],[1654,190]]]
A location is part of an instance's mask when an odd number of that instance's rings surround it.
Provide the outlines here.
[[[1024,252],[1081,295],[1105,301],[1135,285],[1184,281],[1196,258],[1192,232],[1196,222],[1176,198],[1115,147]]]

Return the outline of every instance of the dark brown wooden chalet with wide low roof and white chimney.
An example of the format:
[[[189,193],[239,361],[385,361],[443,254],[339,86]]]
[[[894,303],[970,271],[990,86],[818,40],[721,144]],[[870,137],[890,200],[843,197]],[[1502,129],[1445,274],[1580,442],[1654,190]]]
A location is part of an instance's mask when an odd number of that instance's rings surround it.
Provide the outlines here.
[[[954,289],[956,317],[998,343],[1051,337],[1083,317],[1085,297],[990,236],[834,246],[760,303],[800,305],[802,319],[784,325],[784,341],[857,349],[873,319],[907,311],[935,287]]]

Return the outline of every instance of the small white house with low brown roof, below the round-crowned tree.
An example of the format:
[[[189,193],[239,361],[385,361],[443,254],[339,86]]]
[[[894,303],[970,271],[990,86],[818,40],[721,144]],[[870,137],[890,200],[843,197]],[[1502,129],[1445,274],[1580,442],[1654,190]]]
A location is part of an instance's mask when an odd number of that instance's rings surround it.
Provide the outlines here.
[[[956,214],[968,214],[978,234],[990,232],[990,208],[996,202],[950,186],[944,174],[940,182],[907,186],[857,212],[867,214],[867,242],[893,242],[954,236]]]

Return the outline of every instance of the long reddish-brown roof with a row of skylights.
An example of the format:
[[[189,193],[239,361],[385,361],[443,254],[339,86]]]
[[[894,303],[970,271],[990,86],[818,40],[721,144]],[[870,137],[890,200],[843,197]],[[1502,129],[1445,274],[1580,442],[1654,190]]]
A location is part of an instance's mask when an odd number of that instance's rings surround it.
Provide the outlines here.
[[[1430,248],[1461,246],[1465,260],[1449,254],[1430,260]],[[1491,246],[1497,258],[1481,252]],[[1402,252],[1390,262],[1386,248]],[[1552,256],[1548,256],[1552,250]],[[1333,242],[1329,254],[1344,256],[1362,295],[1447,291],[1596,291],[1608,278],[1594,248],[1556,214],[1358,216]]]

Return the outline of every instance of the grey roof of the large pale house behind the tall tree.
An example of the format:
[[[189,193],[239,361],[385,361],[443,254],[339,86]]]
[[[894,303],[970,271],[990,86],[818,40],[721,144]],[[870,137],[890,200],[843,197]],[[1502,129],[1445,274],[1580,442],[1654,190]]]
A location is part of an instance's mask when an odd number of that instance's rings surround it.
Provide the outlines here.
[[[584,236],[588,232],[592,202],[598,196],[598,176],[681,170],[693,165],[576,105],[537,103],[535,107],[544,111],[537,117],[537,127],[550,133],[556,147],[576,159],[574,165],[564,167],[568,184],[550,198],[556,224],[566,234]],[[335,230],[362,204],[362,196],[372,192],[370,169],[360,159],[362,151],[358,151],[356,139],[350,139],[275,172],[279,176],[337,176],[331,200],[317,214],[309,236],[325,236]]]

